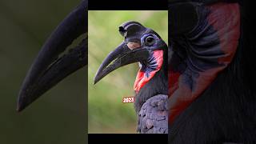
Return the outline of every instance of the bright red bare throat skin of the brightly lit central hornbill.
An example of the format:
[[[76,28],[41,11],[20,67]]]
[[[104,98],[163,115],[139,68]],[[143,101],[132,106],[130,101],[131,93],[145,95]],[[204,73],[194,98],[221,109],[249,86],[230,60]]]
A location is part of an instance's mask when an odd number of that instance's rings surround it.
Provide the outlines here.
[[[145,71],[138,70],[138,74],[137,74],[136,80],[134,82],[134,90],[136,93],[138,93],[138,91],[141,90],[142,87],[145,86],[146,83],[149,82],[150,79],[154,77],[154,74],[156,74],[158,72],[158,70],[160,70],[162,67],[163,50],[154,50],[153,57],[154,57],[155,62],[157,63],[157,66],[156,66],[155,70],[149,72],[149,77],[146,76]]]

